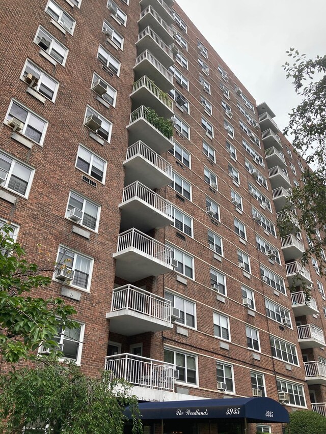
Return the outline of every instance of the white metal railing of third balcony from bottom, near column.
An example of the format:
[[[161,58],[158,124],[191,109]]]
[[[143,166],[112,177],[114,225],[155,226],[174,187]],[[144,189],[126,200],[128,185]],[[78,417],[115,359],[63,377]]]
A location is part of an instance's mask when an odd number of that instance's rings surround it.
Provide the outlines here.
[[[164,262],[166,265],[171,265],[170,247],[143,234],[138,229],[128,229],[122,234],[119,234],[117,252],[121,252],[130,247],[152,256],[157,259],[157,261]]]

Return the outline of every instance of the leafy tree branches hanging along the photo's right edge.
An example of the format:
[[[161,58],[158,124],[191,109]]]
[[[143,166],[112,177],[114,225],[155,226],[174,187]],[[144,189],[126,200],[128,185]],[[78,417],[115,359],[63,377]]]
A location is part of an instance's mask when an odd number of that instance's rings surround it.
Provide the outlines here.
[[[302,182],[292,189],[290,203],[283,209],[278,222],[281,237],[305,229],[309,248],[303,254],[302,265],[311,255],[316,257],[320,274],[324,274],[326,256],[326,55],[307,59],[306,54],[290,48],[293,64],[285,63],[287,78],[293,80],[295,92],[302,102],[290,113],[284,134],[290,136],[295,152],[313,166],[304,169]],[[293,218],[293,208],[298,213]],[[298,276],[293,287],[301,284],[309,297],[310,290]]]

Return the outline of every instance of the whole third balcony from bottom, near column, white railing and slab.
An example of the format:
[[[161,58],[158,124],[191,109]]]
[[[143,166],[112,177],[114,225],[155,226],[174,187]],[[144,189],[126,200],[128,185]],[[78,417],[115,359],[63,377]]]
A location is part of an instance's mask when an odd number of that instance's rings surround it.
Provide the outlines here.
[[[149,276],[170,273],[171,249],[137,229],[129,229],[118,237],[116,276],[135,282]]]

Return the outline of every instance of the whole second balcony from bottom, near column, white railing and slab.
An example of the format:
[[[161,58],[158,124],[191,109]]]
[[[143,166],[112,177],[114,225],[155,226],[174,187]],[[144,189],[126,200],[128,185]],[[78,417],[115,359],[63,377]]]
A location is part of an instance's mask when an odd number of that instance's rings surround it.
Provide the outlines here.
[[[112,294],[110,332],[124,336],[172,330],[171,301],[133,285],[115,288]]]

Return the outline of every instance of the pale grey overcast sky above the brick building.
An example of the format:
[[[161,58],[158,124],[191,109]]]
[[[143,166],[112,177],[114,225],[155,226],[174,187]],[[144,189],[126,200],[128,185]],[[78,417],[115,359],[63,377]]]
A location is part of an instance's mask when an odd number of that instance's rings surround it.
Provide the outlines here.
[[[326,53],[326,0],[176,0],[280,129],[300,99],[282,65],[294,47]]]

